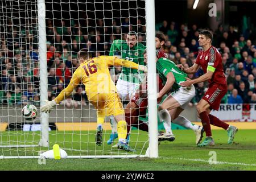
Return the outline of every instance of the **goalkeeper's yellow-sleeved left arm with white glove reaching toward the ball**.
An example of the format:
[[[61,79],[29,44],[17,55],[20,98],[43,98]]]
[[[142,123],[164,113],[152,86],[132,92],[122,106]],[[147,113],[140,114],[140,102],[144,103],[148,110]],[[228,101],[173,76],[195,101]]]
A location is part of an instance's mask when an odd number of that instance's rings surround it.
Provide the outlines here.
[[[42,112],[47,113],[48,111],[51,111],[55,105],[58,105],[61,101],[64,100],[64,97],[69,96],[73,92],[73,89],[75,89],[76,86],[79,85],[81,81],[81,76],[79,76],[80,73],[81,72],[79,72],[79,68],[78,68],[73,74],[67,88],[62,90],[60,94],[55,98],[55,100],[46,101],[46,105],[41,107]]]

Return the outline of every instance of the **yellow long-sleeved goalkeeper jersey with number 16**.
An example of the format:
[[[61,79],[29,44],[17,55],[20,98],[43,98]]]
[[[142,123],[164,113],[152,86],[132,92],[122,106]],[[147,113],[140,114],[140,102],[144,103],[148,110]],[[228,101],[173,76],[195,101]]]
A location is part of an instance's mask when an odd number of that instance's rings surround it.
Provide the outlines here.
[[[85,60],[73,73],[71,81],[67,88],[62,90],[55,98],[57,104],[69,96],[73,89],[82,82],[85,85],[85,92],[88,99],[98,93],[117,93],[115,84],[109,73],[109,66],[122,66],[131,69],[138,69],[139,65],[125,59],[119,59],[115,56],[99,56]]]

